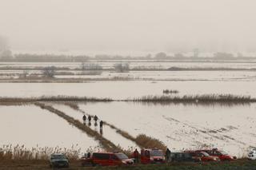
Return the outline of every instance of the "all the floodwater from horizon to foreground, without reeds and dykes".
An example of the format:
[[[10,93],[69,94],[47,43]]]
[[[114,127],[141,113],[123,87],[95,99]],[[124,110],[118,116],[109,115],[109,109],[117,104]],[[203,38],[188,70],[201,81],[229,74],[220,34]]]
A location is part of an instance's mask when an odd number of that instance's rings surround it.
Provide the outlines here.
[[[94,61],[96,63],[96,61]],[[118,61],[97,62],[104,68]],[[0,63],[1,66],[50,66],[78,68],[81,63]],[[177,66],[193,68],[226,67],[254,69],[255,62],[130,62],[131,67]],[[18,71],[22,73],[21,71]],[[0,71],[0,74],[16,74],[16,70]],[[3,75],[6,77],[6,75]],[[92,78],[84,83],[0,83],[1,97],[110,97],[122,100],[147,95],[163,95],[164,89],[178,90],[177,94],[233,94],[256,97],[256,72],[254,71],[131,71],[129,73],[103,72],[101,75],[76,75]],[[69,77],[56,76],[56,77]],[[128,77],[139,81],[98,81],[100,78]],[[143,79],[150,79],[143,81]],[[94,81],[95,80],[95,81]],[[97,80],[97,81],[96,81]],[[165,94],[166,95],[166,94]],[[82,113],[66,105],[51,104],[70,117],[82,120]],[[191,105],[169,104],[149,105],[134,102],[79,103],[80,109],[90,115],[97,115],[132,136],[145,133],[162,140],[172,151],[200,148],[222,148],[234,156],[245,156],[249,147],[256,146],[256,104],[247,105]],[[98,131],[98,126],[90,126]],[[0,106],[0,144],[26,144],[66,147],[78,144],[78,148],[98,145],[69,125],[61,117],[36,106]],[[56,135],[57,134],[57,135]],[[114,129],[104,126],[106,139],[123,148],[137,147],[120,136]]]

